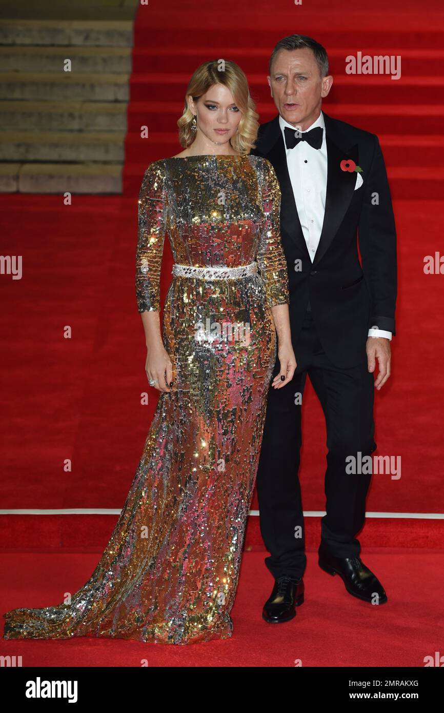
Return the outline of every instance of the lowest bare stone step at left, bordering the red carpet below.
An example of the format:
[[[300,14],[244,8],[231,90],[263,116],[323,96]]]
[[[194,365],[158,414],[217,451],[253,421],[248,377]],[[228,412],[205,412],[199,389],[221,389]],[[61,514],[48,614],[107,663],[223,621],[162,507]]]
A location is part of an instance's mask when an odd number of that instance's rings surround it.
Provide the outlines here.
[[[0,193],[122,193],[122,164],[0,163]]]

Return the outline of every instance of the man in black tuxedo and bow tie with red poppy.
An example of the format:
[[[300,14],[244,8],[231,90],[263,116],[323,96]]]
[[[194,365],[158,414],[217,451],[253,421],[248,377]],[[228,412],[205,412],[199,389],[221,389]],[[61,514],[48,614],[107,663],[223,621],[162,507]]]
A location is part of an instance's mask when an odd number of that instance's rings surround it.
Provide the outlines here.
[[[396,229],[378,137],[321,111],[333,82],[324,47],[301,35],[279,41],[268,82],[279,116],[260,127],[252,153],[272,163],[281,188],[297,369],[291,383],[269,390],[257,493],[265,562],[275,579],[263,617],[285,622],[304,601],[297,471],[307,374],[327,432],[319,565],[338,573],[351,595],[371,604],[387,600],[356,539],[371,475],[349,473],[346,458],[359,461],[359,453],[376,448],[373,394],[390,376],[395,334]]]

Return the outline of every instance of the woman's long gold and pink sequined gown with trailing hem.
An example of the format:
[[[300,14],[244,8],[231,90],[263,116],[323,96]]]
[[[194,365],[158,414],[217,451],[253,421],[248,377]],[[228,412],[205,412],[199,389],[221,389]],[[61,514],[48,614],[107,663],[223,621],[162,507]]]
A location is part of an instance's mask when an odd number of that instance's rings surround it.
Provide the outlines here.
[[[4,638],[190,644],[232,635],[277,353],[270,307],[289,301],[279,209],[277,177],[261,157],[194,155],[148,166],[138,205],[139,312],[159,309],[165,231],[180,265],[257,262],[260,274],[173,275],[162,326],[174,384],[160,393],[108,545],[70,603],[6,612]]]

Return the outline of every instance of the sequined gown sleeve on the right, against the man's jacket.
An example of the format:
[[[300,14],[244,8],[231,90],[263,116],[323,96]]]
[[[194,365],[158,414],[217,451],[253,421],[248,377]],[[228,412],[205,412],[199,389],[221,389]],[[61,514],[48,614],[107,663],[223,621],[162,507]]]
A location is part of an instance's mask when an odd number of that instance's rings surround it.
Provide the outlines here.
[[[264,227],[259,237],[256,260],[264,282],[267,302],[289,304],[289,283],[286,259],[281,242],[281,189],[269,160],[264,159],[260,170]]]

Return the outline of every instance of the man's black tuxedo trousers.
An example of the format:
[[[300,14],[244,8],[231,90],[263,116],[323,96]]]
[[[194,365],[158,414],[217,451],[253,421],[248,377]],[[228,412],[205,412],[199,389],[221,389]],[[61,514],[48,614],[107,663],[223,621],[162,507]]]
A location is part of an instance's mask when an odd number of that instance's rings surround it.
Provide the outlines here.
[[[311,312],[306,312],[294,353],[298,364],[292,381],[282,389],[269,389],[257,471],[259,524],[270,553],[265,563],[274,578],[299,578],[306,567],[298,470],[301,398],[307,374],[326,420],[326,515],[321,519],[321,542],[337,557],[358,556],[361,551],[356,533],[365,520],[371,480],[368,474],[347,473],[346,458],[358,458],[359,452],[367,456],[376,448],[374,381],[367,368],[365,344],[362,364],[337,368],[321,346]],[[278,358],[272,379],[279,369]],[[319,434],[311,436],[319,440]]]

